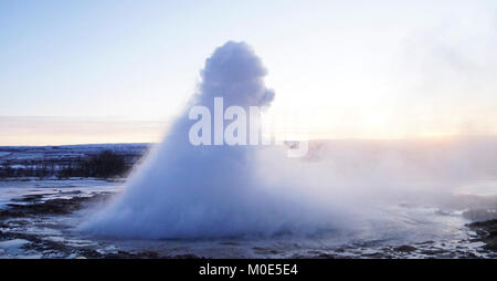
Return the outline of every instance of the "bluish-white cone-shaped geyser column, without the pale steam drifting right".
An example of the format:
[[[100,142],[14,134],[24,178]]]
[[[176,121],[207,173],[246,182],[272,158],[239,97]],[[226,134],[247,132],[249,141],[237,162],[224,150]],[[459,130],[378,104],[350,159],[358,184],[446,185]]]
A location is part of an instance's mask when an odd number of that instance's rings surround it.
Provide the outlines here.
[[[199,93],[190,105],[214,113],[214,97],[223,97],[224,107],[267,106],[274,92],[265,87],[265,75],[246,43],[228,42],[205,61]],[[139,238],[273,235],[298,229],[305,221],[302,217],[311,216],[258,179],[255,158],[261,147],[192,145],[191,106],[124,192],[83,223],[83,230]],[[215,129],[216,124],[211,124]]]

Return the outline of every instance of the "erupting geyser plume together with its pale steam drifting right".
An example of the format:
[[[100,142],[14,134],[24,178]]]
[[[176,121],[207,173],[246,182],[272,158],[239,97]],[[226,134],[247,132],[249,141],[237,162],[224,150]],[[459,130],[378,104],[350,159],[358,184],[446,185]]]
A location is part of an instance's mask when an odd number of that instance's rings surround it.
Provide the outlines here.
[[[268,106],[266,70],[245,43],[228,42],[205,61],[202,82],[163,142],[115,200],[81,229],[136,238],[316,233],[378,220],[376,202],[434,198],[433,191],[495,175],[495,138],[448,144],[337,140],[292,159],[284,147],[199,145],[189,140],[192,106]],[[211,125],[215,129],[215,122]],[[477,149],[476,149],[477,148]],[[427,180],[426,180],[427,179]]]

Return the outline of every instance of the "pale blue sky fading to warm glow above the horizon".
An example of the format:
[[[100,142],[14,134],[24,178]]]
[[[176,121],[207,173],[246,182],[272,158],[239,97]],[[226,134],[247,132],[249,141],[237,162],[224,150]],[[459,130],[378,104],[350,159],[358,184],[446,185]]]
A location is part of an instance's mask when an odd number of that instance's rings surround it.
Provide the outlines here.
[[[157,142],[229,40],[262,58],[285,129],[497,134],[494,0],[3,0],[0,145]]]

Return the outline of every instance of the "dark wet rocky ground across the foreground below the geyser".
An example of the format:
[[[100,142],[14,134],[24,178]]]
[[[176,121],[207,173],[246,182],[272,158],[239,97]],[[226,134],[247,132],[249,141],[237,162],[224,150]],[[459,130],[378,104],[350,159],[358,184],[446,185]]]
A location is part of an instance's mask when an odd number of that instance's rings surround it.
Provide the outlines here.
[[[459,229],[463,239],[391,244],[381,240],[306,246],[292,239],[247,241],[123,241],[92,238],[74,231],[85,210],[107,201],[113,192],[57,191],[25,195],[0,210],[0,257],[3,258],[497,258],[497,220],[473,222]],[[51,198],[51,199],[46,199]],[[476,216],[475,214],[473,214]],[[483,216],[482,214],[479,214]],[[484,214],[487,216],[488,214]],[[310,239],[313,240],[313,239]]]

